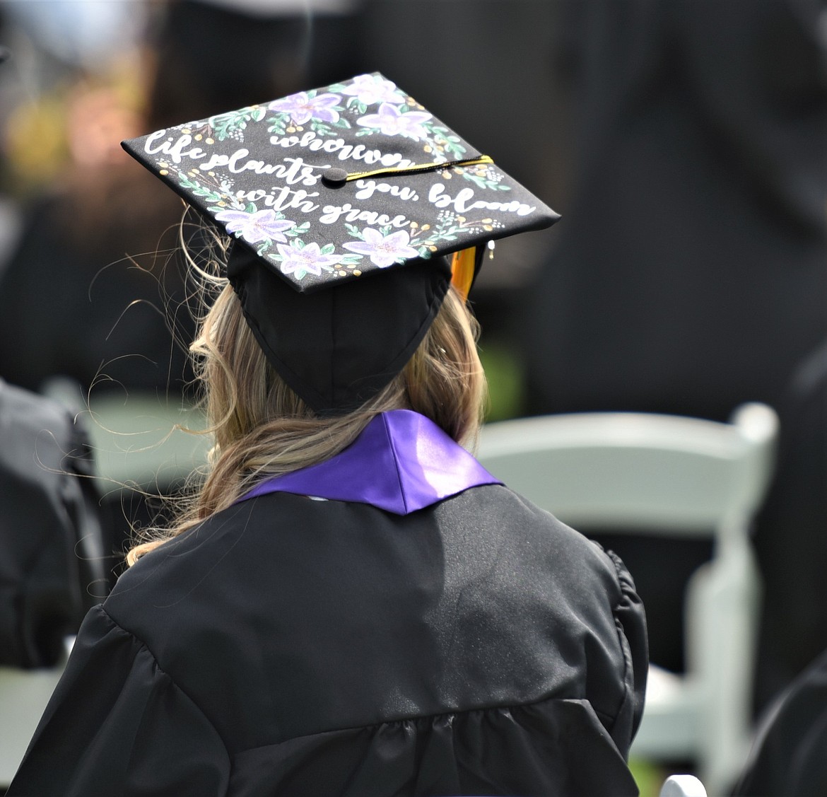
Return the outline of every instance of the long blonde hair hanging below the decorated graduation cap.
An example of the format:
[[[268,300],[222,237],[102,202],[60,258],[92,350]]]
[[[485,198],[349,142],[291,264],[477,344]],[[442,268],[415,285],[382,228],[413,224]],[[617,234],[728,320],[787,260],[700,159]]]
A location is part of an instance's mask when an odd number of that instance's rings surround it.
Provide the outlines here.
[[[483,417],[485,375],[476,350],[479,327],[457,290],[414,356],[374,398],[347,415],[316,415],[265,358],[241,302],[225,285],[190,347],[215,444],[201,487],[179,499],[172,526],[151,530],[127,554],[127,564],[230,507],[263,478],[306,468],[338,454],[382,412],[426,415],[458,443],[476,444]]]

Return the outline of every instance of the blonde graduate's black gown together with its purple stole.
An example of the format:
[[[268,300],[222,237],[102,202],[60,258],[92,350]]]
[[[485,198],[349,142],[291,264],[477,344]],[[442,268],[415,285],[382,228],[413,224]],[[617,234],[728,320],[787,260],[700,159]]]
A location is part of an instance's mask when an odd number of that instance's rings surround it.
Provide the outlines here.
[[[9,797],[633,795],[619,559],[380,415],[89,612]]]

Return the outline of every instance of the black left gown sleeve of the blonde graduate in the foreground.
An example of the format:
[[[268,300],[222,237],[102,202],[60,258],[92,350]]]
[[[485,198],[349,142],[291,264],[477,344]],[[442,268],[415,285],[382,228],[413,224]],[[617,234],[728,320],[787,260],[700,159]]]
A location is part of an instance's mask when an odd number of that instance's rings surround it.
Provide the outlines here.
[[[229,774],[212,723],[97,606],[7,797],[217,797]]]

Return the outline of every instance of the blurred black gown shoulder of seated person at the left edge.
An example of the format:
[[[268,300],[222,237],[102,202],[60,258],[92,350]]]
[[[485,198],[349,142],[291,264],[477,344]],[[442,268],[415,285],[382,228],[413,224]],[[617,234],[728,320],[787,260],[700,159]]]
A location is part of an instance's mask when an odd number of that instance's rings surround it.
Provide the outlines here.
[[[78,420],[0,379],[0,665],[55,665],[108,592],[99,501]]]

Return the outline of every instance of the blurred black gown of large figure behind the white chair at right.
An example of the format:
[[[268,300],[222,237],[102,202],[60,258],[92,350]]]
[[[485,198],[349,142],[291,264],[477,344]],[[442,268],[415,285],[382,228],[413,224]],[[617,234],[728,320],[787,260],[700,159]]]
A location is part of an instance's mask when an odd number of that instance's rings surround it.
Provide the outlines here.
[[[778,409],[797,365],[827,337],[824,3],[560,7],[574,190],[527,290],[526,414],[723,421],[744,401]],[[584,531],[635,575],[652,660],[683,670],[685,584],[709,545]],[[786,534],[778,528],[777,545],[794,548]],[[777,559],[759,552],[759,564],[777,583]],[[782,626],[786,616],[777,612]],[[788,644],[770,641],[785,658]]]

